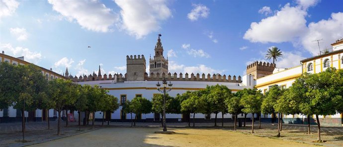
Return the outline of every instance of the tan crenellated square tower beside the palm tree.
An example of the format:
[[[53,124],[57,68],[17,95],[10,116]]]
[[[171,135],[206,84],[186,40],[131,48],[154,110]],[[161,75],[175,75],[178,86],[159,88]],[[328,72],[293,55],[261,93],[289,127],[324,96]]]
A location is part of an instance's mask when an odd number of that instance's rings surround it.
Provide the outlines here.
[[[276,64],[265,62],[254,62],[247,66],[247,74],[252,74],[254,79],[273,74]]]

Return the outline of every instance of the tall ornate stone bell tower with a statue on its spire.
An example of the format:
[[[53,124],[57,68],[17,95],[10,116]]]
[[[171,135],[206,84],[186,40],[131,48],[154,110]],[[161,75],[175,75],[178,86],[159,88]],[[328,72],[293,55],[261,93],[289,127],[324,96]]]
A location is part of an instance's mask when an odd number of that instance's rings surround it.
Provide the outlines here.
[[[163,46],[161,43],[161,37],[162,35],[159,34],[159,38],[157,39],[157,43],[155,45],[155,56],[152,59],[150,57],[149,60],[149,73],[154,73],[154,74],[168,74],[168,57],[167,59],[165,59],[165,57],[163,56]]]

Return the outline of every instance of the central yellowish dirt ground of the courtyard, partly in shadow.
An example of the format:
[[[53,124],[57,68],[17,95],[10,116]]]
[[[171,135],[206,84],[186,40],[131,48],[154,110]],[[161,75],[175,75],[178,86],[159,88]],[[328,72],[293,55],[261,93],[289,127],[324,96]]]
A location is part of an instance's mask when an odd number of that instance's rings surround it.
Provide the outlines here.
[[[31,147],[313,147],[221,129],[104,128]]]

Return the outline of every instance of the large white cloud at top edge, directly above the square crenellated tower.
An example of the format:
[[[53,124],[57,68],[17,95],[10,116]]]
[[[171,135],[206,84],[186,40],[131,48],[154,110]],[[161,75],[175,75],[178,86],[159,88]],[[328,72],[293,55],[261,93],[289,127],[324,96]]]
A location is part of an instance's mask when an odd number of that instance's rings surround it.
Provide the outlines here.
[[[121,8],[121,28],[140,39],[161,29],[161,22],[170,18],[166,0],[114,0]]]

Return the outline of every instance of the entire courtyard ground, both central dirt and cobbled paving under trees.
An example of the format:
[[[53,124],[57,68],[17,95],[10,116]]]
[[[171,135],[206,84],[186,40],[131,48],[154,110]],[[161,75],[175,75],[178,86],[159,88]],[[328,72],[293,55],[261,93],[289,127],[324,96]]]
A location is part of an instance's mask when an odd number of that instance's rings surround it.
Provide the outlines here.
[[[224,127],[197,123],[195,128],[187,127],[186,123],[169,123],[169,130],[176,133],[172,135],[155,134],[161,129],[160,123],[137,123],[136,127],[130,128],[131,123],[111,122],[109,126],[105,123],[101,127],[101,122],[96,122],[93,129],[90,125],[82,126],[81,132],[77,123],[70,123],[70,127],[62,124],[62,135],[57,136],[56,122],[51,122],[51,130],[47,130],[46,122],[27,123],[25,139],[29,142],[24,144],[19,142],[21,123],[0,124],[0,147],[343,147],[342,127],[323,127],[322,140],[326,142],[313,143],[317,139],[316,126],[312,126],[312,134],[307,135],[306,126],[283,125],[281,138],[276,138],[277,125],[271,124],[262,124],[262,129],[256,125],[255,134],[251,134],[249,125],[235,132],[232,123],[225,123]]]

